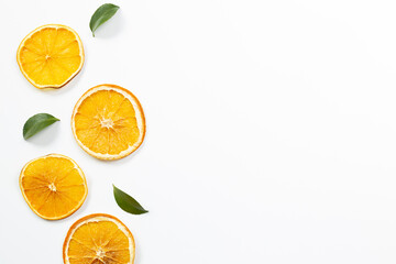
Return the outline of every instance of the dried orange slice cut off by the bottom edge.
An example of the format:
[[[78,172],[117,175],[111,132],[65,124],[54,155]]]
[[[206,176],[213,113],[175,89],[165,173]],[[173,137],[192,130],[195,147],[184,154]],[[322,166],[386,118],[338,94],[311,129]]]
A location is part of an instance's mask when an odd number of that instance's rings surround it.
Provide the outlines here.
[[[131,231],[117,218],[103,213],[75,222],[63,246],[65,264],[132,264],[134,256]]]

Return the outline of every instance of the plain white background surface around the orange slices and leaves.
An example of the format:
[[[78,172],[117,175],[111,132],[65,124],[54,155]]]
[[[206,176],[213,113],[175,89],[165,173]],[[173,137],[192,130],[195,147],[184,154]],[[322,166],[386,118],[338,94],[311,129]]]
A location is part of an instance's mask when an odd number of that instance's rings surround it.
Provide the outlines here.
[[[70,224],[120,218],[136,264],[396,262],[396,3],[394,0],[2,1],[0,15],[0,263],[62,264]],[[41,91],[20,73],[22,38],[46,23],[75,29],[80,74]],[[140,99],[142,147],[118,162],[86,154],[70,130],[88,88],[117,84]],[[24,141],[24,121],[62,121]],[[36,217],[22,166],[73,157],[89,195],[72,217]],[[112,184],[148,213],[122,211]]]

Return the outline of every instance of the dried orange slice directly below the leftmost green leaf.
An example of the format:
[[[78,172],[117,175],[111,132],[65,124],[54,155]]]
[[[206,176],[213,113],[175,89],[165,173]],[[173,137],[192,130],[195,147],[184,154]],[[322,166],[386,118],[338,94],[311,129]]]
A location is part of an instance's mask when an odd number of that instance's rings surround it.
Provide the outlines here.
[[[29,207],[47,220],[70,216],[81,207],[88,194],[81,168],[59,154],[29,162],[22,168],[20,187]]]

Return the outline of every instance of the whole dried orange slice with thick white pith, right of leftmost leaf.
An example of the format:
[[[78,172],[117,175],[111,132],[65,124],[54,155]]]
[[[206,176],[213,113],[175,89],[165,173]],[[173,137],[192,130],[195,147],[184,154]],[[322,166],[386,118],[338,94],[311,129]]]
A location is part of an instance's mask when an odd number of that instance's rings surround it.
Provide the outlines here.
[[[82,95],[72,116],[77,143],[100,160],[118,160],[143,142],[143,109],[131,91],[116,85],[99,85]]]

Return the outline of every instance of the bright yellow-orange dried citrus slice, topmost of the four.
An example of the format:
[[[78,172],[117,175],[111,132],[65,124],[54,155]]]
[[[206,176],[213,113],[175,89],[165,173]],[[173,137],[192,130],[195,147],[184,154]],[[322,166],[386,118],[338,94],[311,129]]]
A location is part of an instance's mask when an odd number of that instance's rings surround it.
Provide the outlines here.
[[[36,88],[61,88],[82,67],[82,43],[66,25],[43,25],[23,38],[16,61],[24,77]]]

